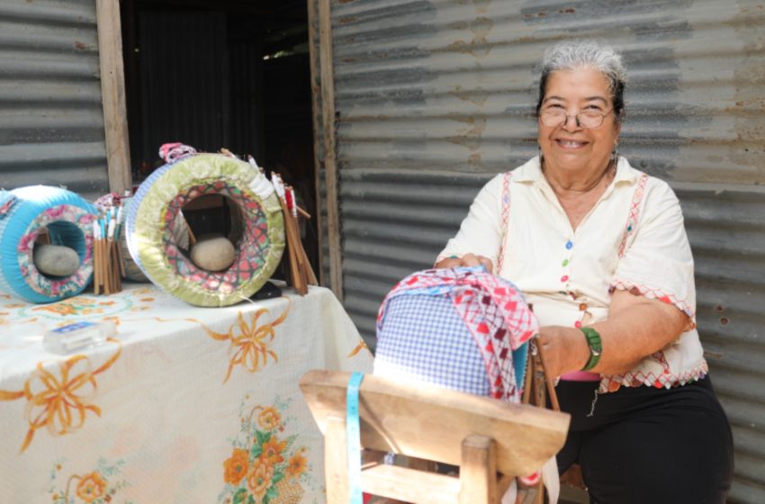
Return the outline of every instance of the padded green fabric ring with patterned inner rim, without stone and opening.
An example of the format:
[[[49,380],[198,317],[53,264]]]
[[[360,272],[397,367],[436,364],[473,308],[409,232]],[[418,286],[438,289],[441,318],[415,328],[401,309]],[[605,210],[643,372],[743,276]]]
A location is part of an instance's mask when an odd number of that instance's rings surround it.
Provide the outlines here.
[[[244,228],[233,265],[221,272],[193,265],[173,232],[184,205],[211,194],[238,207]],[[130,256],[144,275],[195,306],[249,298],[274,274],[284,252],[284,216],[273,186],[257,168],[221,154],[183,157],[157,168],[129,203],[126,224]]]

